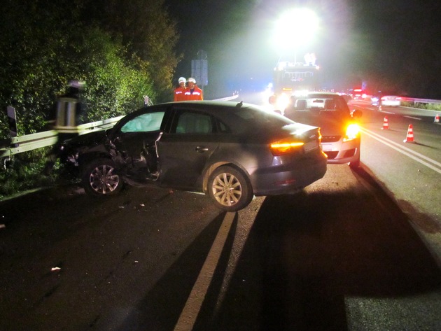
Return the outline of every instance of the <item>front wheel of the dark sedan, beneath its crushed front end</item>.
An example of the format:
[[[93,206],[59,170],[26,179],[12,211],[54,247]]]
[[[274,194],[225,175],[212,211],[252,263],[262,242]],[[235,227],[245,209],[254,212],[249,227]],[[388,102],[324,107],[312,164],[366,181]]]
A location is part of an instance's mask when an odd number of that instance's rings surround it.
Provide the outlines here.
[[[85,192],[96,197],[117,195],[123,188],[123,179],[109,159],[93,160],[85,165],[81,182]]]

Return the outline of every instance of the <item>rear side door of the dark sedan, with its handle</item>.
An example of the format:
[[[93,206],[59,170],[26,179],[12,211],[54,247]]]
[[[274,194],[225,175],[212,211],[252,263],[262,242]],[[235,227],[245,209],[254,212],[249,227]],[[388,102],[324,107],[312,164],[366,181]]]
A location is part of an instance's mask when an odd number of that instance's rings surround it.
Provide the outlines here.
[[[157,141],[161,185],[200,188],[202,171],[218,145],[213,116],[204,111],[176,109],[171,129]]]

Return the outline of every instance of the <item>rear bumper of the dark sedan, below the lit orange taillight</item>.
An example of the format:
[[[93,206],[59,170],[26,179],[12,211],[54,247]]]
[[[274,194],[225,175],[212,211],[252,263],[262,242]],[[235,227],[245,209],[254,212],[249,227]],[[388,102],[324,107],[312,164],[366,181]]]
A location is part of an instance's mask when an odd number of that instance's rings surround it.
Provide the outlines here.
[[[303,155],[295,162],[256,171],[251,175],[254,195],[283,195],[298,192],[323,178],[326,156],[319,153]]]

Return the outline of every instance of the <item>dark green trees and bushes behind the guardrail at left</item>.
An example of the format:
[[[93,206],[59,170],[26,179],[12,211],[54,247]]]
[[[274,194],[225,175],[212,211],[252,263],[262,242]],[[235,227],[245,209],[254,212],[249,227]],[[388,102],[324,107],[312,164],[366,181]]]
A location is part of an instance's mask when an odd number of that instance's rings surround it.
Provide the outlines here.
[[[45,129],[57,94],[85,80],[94,121],[170,98],[181,55],[163,0],[0,0],[0,139],[6,106],[18,134]]]

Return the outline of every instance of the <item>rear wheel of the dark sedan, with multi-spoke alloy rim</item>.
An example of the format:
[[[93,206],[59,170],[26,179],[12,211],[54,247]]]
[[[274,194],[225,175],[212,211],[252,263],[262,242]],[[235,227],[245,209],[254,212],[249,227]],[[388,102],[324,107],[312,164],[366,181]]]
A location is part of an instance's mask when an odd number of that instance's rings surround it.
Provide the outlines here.
[[[209,177],[209,197],[219,209],[239,211],[253,199],[253,189],[248,178],[239,169],[218,167]]]

